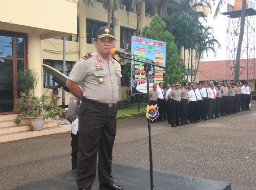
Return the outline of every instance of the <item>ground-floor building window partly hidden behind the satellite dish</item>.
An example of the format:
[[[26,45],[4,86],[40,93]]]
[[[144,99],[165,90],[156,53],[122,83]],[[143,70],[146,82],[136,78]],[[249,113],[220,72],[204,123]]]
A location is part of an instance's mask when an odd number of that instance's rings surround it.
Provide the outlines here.
[[[66,72],[65,72],[66,76],[69,76],[69,73],[72,70],[73,63],[75,62],[66,61]],[[45,59],[44,64],[49,65],[62,73],[62,64],[63,64],[62,61]],[[53,81],[53,76],[51,76],[47,71],[45,71],[44,72],[44,88],[55,87],[57,85],[58,83],[55,83]]]

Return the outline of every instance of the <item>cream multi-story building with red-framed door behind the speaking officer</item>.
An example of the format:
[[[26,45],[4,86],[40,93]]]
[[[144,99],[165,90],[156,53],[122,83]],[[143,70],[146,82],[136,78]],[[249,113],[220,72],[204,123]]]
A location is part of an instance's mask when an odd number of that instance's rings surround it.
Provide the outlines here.
[[[148,2],[148,1],[146,1]],[[108,12],[102,3],[92,0],[86,5],[83,0],[0,0],[2,12],[0,18],[0,115],[14,113],[13,107],[18,97],[17,69],[34,68],[40,75],[35,95],[51,94],[54,85],[51,76],[45,73],[42,64],[63,72],[63,38],[65,38],[65,74],[68,76],[75,62],[82,56],[94,52],[94,40],[99,27],[107,24]],[[10,8],[12,7],[12,11]],[[139,30],[151,21],[152,5],[140,4]],[[177,9],[169,3],[167,9]],[[160,3],[154,3],[154,9],[161,13]],[[120,7],[114,12],[115,48],[124,51],[131,44],[132,35],[136,35],[137,11],[130,1],[121,0]],[[64,37],[65,36],[65,37]],[[183,56],[183,50],[181,50]],[[188,58],[188,54],[186,54]],[[185,63],[187,61],[185,60]],[[194,63],[197,63],[195,61]],[[125,64],[125,63],[122,63]],[[195,65],[196,67],[196,65]],[[120,97],[126,96],[131,86],[130,76],[121,80]],[[59,89],[59,97],[62,90]],[[66,95],[65,104],[69,96]],[[58,105],[62,104],[58,99]]]

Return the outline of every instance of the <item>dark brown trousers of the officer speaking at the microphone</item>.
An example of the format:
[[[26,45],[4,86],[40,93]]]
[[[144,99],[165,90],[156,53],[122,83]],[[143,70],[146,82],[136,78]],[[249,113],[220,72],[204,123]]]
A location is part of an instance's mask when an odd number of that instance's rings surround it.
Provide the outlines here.
[[[111,108],[83,101],[79,109],[77,185],[88,188],[96,177],[99,152],[99,183],[112,182],[112,150],[116,136],[117,106]]]

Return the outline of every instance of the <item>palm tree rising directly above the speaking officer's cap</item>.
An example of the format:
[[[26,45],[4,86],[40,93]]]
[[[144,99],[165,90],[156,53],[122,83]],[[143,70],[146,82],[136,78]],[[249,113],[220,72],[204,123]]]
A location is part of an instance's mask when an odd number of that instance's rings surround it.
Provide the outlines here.
[[[108,27],[110,27],[110,18],[112,23],[115,24],[114,12],[119,8],[120,0],[97,0],[102,3],[102,6],[105,10],[108,11]]]

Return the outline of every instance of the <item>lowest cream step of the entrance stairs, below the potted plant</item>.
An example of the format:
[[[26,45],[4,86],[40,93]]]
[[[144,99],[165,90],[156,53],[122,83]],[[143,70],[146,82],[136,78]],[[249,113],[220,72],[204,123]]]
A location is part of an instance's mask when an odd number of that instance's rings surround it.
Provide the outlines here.
[[[55,123],[55,122],[54,122]],[[13,140],[20,140],[20,139],[27,139],[36,136],[43,136],[43,135],[51,135],[61,132],[68,132],[71,130],[71,125],[64,125],[64,126],[52,126],[52,127],[45,127],[41,131],[32,131],[25,130],[25,131],[16,131],[16,132],[9,132],[5,134],[0,134],[0,143],[9,142]]]

